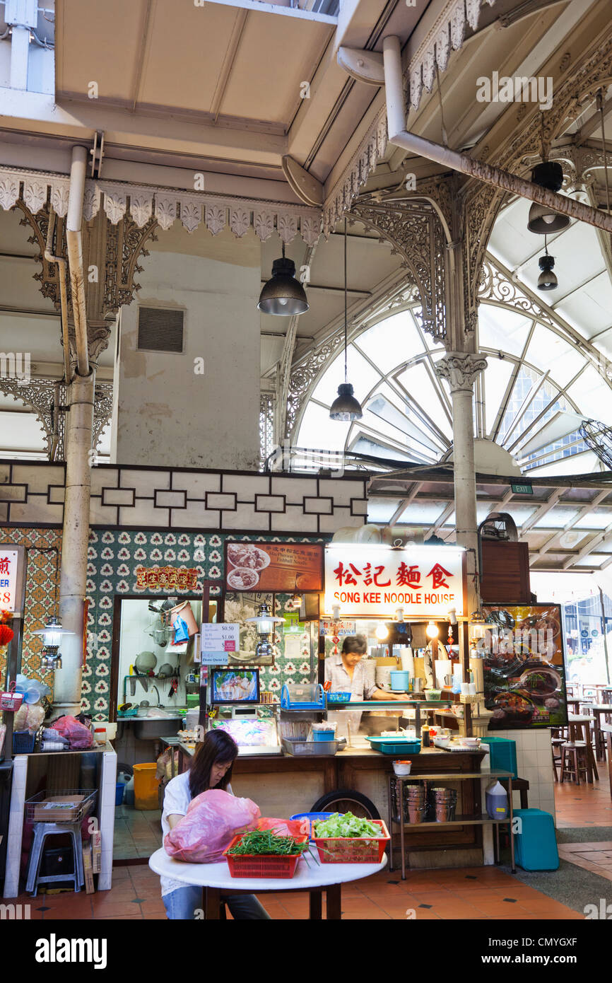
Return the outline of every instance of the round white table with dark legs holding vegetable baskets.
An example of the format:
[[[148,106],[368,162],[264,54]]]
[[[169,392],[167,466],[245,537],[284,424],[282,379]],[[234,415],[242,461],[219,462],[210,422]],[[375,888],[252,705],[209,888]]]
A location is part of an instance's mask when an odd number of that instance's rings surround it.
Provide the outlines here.
[[[170,877],[185,884],[195,884],[203,891],[205,917],[218,919],[221,909],[221,893],[237,895],[261,895],[267,892],[307,891],[310,896],[310,919],[322,918],[322,892],[327,896],[327,918],[339,920],[342,914],[342,885],[349,881],[361,881],[383,870],[386,854],[380,863],[322,863],[309,856],[302,859],[292,878],[230,877],[226,860],[218,863],[182,863],[168,856],[165,849],[155,850],[148,865],[160,876]]]

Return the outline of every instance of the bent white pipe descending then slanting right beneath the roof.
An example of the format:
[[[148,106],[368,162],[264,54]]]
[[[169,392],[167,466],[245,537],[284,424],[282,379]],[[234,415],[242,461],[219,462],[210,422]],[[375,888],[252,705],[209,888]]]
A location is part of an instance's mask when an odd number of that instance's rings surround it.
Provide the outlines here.
[[[492,185],[529,202],[546,205],[552,211],[558,211],[570,218],[587,222],[598,229],[612,232],[612,214],[591,208],[590,205],[576,202],[573,198],[558,195],[547,188],[540,188],[532,181],[511,174],[501,167],[493,167],[481,160],[476,160],[467,153],[459,153],[448,146],[434,144],[423,137],[417,137],[406,130],[406,111],[404,105],[404,82],[402,75],[402,57],[400,40],[389,36],[383,40],[383,65],[385,75],[385,93],[387,100],[387,130],[389,143],[401,146],[411,153],[434,160],[444,167],[449,167],[461,174],[468,174],[484,184]]]

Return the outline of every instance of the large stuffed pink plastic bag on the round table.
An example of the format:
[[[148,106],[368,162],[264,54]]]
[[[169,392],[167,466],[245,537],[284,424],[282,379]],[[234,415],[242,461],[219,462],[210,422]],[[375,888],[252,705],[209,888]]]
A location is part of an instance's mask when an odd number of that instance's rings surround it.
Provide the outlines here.
[[[254,830],[259,806],[220,788],[209,788],[190,802],[187,815],[164,837],[166,853],[185,863],[214,863],[239,833]]]

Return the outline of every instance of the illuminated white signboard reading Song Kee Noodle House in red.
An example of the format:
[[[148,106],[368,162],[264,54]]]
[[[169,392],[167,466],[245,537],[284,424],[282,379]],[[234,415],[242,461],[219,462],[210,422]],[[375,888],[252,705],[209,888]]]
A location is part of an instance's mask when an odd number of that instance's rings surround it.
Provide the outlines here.
[[[342,618],[394,617],[406,621],[465,611],[465,550],[332,544],[325,548],[324,613]]]

